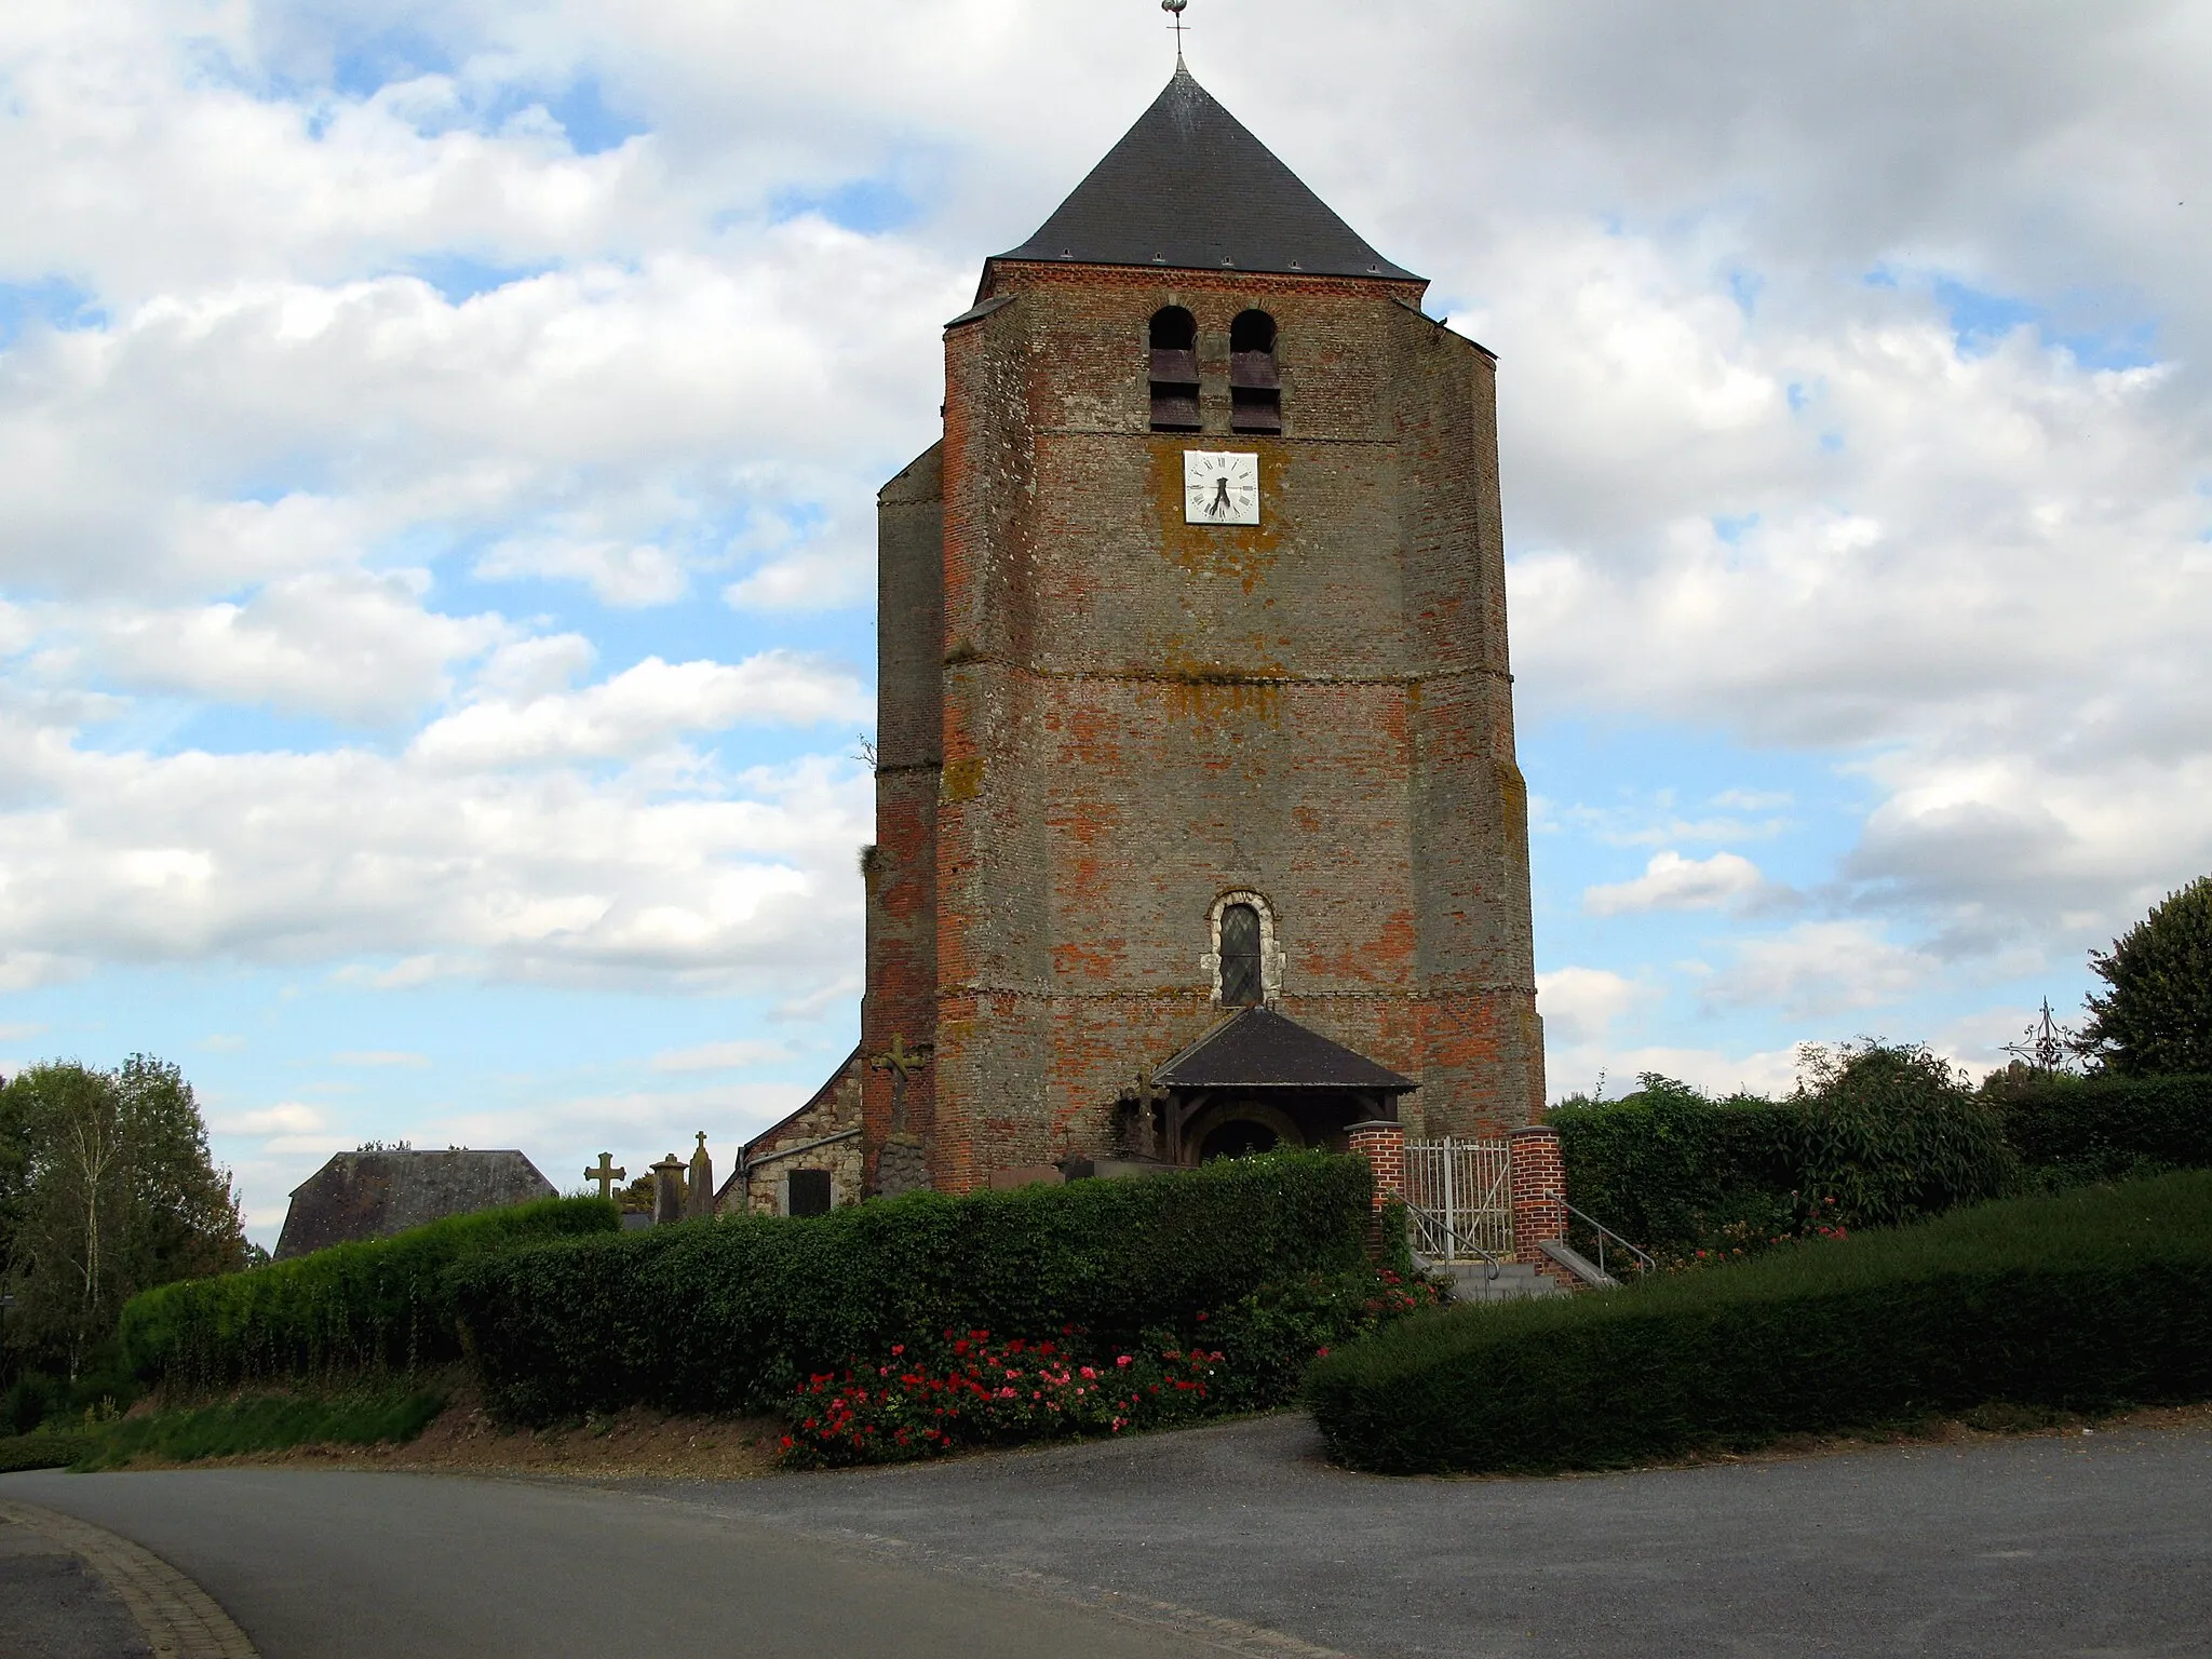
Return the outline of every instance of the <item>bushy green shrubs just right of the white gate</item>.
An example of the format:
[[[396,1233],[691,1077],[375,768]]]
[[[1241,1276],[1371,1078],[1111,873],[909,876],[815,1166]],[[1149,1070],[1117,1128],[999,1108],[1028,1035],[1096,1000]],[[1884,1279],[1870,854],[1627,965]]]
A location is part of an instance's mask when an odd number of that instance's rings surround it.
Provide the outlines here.
[[[1553,1110],[1568,1201],[1646,1250],[1694,1259],[2013,1188],[2000,1113],[1924,1048],[1807,1046],[1801,1064],[1787,1099],[1710,1099],[1646,1075],[1626,1099]]]

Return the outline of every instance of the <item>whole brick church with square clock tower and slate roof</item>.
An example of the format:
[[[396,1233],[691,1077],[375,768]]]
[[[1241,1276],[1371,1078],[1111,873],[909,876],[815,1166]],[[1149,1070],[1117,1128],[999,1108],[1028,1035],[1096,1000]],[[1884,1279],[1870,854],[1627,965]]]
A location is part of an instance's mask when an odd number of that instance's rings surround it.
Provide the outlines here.
[[[1495,358],[1177,62],[878,498],[860,1046],[723,1208],[1544,1099]]]

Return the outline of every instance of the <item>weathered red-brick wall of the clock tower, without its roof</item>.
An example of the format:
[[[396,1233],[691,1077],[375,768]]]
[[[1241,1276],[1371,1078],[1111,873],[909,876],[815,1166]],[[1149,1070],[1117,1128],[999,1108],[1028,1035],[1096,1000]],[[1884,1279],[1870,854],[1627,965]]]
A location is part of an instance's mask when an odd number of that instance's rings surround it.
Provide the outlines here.
[[[998,263],[987,290],[1013,299],[947,334],[942,447],[880,507],[863,1029],[933,1042],[909,1084],[933,1183],[1108,1150],[1119,1091],[1219,1018],[1206,916],[1241,887],[1274,909],[1283,1013],[1420,1079],[1409,1133],[1526,1124],[1489,354],[1407,283]],[[1148,429],[1168,303],[1199,319],[1197,436]],[[1248,305],[1279,325],[1279,438],[1228,429]],[[1192,447],[1259,456],[1259,526],[1183,524]],[[880,1073],[867,1126],[874,1155]]]

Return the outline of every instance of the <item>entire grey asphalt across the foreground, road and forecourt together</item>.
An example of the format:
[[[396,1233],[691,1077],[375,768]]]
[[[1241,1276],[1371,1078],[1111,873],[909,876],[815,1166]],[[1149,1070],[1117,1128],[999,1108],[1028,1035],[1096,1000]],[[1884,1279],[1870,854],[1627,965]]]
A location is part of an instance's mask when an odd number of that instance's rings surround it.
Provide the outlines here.
[[[2205,1655],[2212,1431],[1378,1480],[1296,1418],[730,1484],[7,1475],[294,1655]],[[1281,1632],[1281,1639],[1267,1632]]]

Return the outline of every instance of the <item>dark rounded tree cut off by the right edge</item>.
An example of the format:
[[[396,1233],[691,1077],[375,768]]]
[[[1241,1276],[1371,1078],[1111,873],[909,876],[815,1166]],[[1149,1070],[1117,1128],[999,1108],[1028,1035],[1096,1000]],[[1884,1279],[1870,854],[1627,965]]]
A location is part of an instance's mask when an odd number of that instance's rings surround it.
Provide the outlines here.
[[[2212,876],[2168,894],[2088,964],[2110,989],[2088,998],[2084,1053],[2124,1077],[2212,1073]]]

